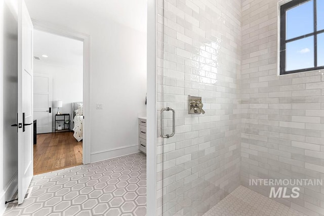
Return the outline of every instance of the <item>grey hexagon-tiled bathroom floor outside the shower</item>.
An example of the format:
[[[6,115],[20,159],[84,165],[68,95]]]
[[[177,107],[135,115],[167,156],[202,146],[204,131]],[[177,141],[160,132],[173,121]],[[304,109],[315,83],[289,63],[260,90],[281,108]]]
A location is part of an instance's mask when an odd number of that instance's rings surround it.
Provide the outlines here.
[[[5,216],[144,216],[146,156],[135,153],[34,176],[30,197]]]

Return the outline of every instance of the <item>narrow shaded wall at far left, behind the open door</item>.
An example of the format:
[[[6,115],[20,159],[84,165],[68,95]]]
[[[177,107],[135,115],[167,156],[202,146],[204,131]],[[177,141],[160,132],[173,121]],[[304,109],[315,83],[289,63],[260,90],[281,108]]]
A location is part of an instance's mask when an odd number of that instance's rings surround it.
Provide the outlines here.
[[[4,211],[5,201],[11,200],[17,189],[17,128],[11,124],[17,122],[18,97],[18,23],[16,1],[1,1],[0,24],[0,214]],[[3,9],[2,9],[3,7]],[[3,10],[3,13],[2,13]],[[3,46],[3,49],[2,47]],[[4,103],[5,102],[5,103]]]

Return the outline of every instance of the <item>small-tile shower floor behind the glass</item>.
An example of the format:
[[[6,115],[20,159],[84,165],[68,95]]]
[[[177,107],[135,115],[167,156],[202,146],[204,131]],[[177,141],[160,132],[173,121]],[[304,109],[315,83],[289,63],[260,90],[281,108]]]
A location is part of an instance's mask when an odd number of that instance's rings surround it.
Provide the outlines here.
[[[203,216],[216,215],[307,216],[244,186],[238,186]]]

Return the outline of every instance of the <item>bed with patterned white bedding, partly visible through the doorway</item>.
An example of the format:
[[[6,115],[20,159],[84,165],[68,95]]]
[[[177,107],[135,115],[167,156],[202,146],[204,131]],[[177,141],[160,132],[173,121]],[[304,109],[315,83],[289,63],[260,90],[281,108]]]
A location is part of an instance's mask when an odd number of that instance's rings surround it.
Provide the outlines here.
[[[73,137],[80,142],[83,139],[83,102],[72,103]]]

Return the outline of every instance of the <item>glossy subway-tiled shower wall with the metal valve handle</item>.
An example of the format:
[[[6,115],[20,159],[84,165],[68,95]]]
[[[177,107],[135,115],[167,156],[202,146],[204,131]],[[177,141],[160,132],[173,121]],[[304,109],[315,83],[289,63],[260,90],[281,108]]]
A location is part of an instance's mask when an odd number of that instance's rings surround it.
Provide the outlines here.
[[[202,215],[240,184],[241,1],[160,0],[157,13],[157,115],[176,110],[176,135],[158,138],[157,214]]]

